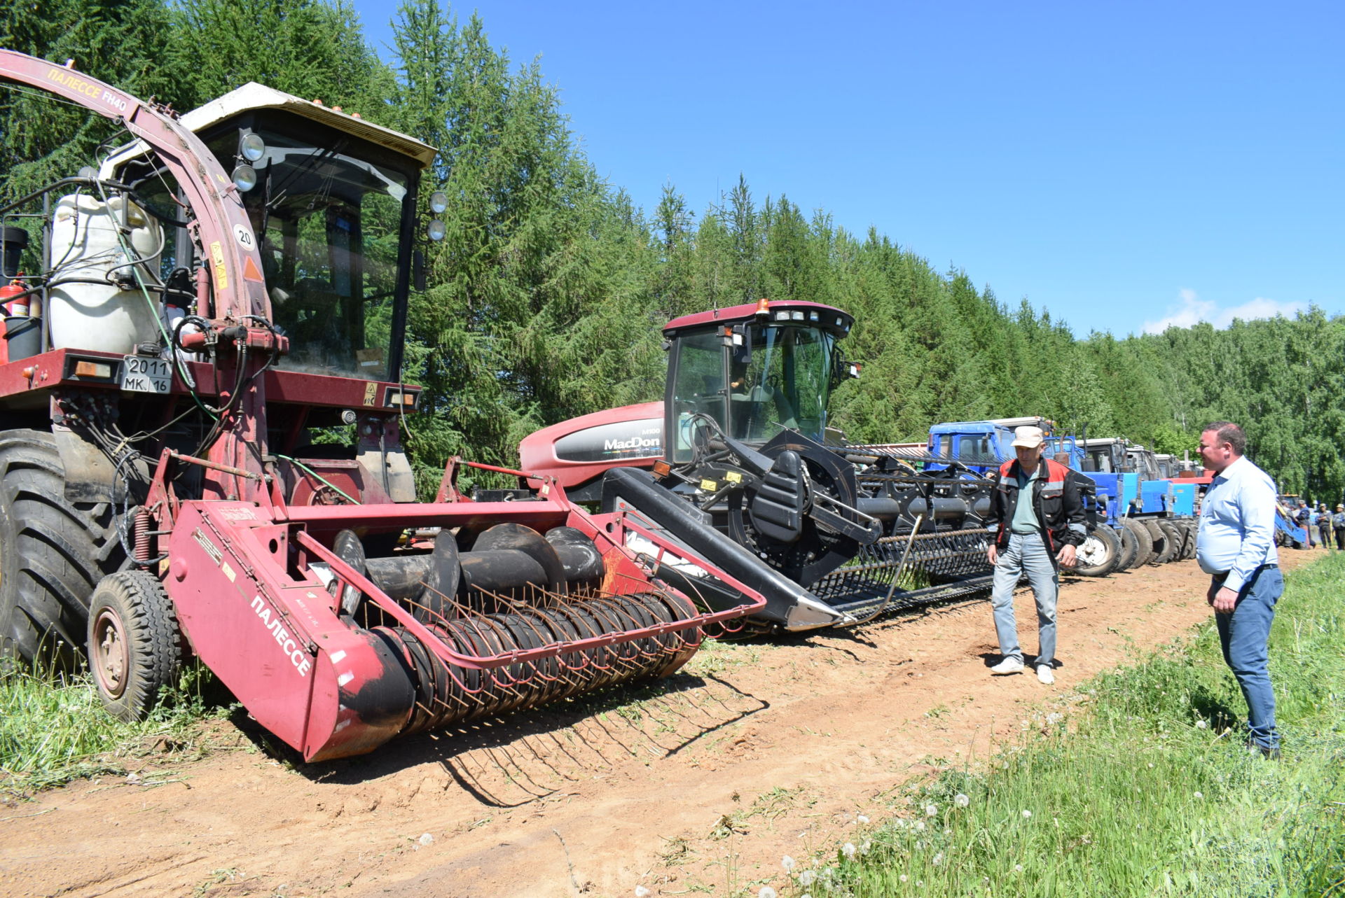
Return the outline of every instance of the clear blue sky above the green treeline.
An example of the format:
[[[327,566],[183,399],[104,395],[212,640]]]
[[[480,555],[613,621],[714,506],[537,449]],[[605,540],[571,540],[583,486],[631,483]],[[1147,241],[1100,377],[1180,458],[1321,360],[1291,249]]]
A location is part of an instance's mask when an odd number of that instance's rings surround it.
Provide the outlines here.
[[[355,0],[389,55],[397,4]],[[534,3],[599,173],[870,226],[1079,336],[1345,313],[1345,3]]]

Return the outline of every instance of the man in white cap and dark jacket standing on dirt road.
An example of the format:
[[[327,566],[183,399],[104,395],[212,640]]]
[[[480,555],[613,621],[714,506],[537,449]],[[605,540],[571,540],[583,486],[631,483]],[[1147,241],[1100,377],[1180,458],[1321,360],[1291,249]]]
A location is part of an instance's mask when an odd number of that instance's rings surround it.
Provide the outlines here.
[[[1056,598],[1060,591],[1059,565],[1075,566],[1075,547],[1087,536],[1084,501],[1079,475],[1057,461],[1042,458],[1046,434],[1041,427],[1014,430],[1018,456],[1006,461],[994,476],[986,526],[997,528],[986,558],[994,565],[995,633],[1003,660],[991,674],[1018,674],[1024,669],[1018,625],[1013,613],[1013,591],[1026,574],[1037,600],[1038,649],[1037,679],[1056,682]]]

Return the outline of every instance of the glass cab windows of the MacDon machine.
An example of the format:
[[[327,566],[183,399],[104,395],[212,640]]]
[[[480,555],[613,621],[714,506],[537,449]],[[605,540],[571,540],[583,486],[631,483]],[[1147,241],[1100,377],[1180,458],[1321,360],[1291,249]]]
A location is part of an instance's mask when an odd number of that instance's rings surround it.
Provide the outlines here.
[[[726,340],[732,344],[725,345]],[[681,336],[671,397],[675,460],[690,458],[690,419],[698,413],[749,444],[763,444],[781,430],[820,441],[834,348],[831,332],[798,324],[738,325],[732,337],[718,329]]]

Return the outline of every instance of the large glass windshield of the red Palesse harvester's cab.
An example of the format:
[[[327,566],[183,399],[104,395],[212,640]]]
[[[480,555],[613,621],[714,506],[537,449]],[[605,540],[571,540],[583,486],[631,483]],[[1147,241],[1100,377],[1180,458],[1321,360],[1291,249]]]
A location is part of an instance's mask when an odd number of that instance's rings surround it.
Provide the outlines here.
[[[362,159],[360,142],[330,144],[274,128],[229,129],[210,141],[231,171],[239,137],[258,134],[257,186],[242,194],[261,250],[272,316],[289,337],[278,367],[386,380],[399,234],[410,176]]]

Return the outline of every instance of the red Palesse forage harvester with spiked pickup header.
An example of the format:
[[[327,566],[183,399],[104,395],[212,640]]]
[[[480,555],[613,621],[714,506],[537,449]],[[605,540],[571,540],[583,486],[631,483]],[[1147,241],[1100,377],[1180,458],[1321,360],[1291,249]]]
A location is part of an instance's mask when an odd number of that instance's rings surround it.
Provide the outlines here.
[[[129,719],[195,656],[312,761],[667,675],[761,606],[732,577],[736,602],[697,605],[549,477],[416,501],[401,368],[432,147],[260,85],[179,118],[9,51],[0,81],[129,136],[0,208],[5,258],[23,233],[38,272],[0,359],[5,663],[85,645]]]

